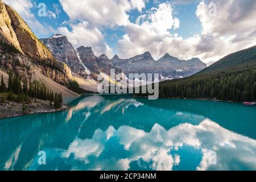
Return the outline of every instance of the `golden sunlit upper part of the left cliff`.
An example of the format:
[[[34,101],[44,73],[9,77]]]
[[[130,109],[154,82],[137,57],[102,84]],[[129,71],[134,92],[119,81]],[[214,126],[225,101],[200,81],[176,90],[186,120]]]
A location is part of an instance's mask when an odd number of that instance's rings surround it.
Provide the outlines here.
[[[53,60],[51,52],[36,38],[30,27],[16,11],[0,2],[1,39],[34,59]]]

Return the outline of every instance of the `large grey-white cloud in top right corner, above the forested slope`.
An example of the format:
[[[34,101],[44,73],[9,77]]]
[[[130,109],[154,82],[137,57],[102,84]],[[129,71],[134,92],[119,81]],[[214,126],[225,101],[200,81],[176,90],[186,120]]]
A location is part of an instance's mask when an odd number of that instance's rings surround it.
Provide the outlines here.
[[[216,16],[209,14],[210,3],[217,7]],[[203,27],[196,51],[202,58],[217,61],[229,53],[255,46],[256,1],[202,1],[197,6],[197,17]],[[213,60],[215,57],[215,60]]]

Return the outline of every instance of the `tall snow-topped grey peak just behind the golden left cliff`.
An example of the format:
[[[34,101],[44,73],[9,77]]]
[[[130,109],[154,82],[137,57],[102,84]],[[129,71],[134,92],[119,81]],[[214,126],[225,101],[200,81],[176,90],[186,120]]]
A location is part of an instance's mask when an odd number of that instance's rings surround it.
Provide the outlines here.
[[[85,70],[79,60],[75,48],[68,42],[66,36],[56,34],[47,39],[40,39],[52,52],[56,60],[61,61],[71,68],[72,72],[79,73]]]

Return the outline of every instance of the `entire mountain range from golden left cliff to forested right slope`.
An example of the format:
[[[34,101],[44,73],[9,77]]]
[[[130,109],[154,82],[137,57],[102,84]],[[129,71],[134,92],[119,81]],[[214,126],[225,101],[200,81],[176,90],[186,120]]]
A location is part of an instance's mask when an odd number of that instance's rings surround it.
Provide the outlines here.
[[[256,47],[225,56],[207,67],[200,59],[180,60],[166,53],[154,60],[150,52],[129,59],[96,56],[91,47],[74,48],[67,36],[38,39],[16,11],[0,0],[0,67],[38,80],[64,97],[74,90],[97,91],[97,76],[159,73],[162,97],[217,98],[244,101],[256,97]],[[6,75],[5,75],[6,77]],[[185,77],[185,78],[183,78]],[[181,79],[180,79],[181,78]]]

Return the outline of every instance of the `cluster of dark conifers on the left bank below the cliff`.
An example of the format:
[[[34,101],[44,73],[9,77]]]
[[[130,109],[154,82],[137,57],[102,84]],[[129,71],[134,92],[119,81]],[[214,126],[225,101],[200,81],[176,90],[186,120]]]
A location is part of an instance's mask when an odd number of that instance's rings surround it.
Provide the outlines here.
[[[23,82],[23,84],[22,84]],[[1,76],[0,92],[7,93],[7,100],[15,102],[31,103],[31,99],[49,101],[49,105],[59,109],[63,104],[61,93],[53,93],[52,90],[38,81],[28,82],[21,79],[18,74],[9,73],[8,84],[5,84],[3,75]]]

